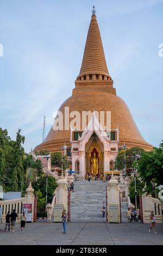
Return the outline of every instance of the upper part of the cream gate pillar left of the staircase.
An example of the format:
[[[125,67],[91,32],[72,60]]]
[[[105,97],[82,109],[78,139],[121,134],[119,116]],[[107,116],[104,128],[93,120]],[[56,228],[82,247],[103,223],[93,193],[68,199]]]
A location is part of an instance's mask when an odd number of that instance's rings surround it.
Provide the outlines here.
[[[67,212],[67,197],[68,197],[68,189],[67,189],[67,181],[66,179],[61,176],[61,178],[58,180],[58,187],[55,190],[55,197],[56,197],[56,204],[63,204],[64,209]]]

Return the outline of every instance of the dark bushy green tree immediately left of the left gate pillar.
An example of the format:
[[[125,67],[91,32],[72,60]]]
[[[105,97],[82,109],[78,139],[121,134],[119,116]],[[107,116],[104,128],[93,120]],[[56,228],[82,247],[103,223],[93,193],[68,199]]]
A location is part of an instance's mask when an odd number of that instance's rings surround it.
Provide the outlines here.
[[[47,203],[52,203],[53,200],[53,193],[55,188],[57,187],[57,183],[52,176],[48,176],[48,186],[47,186]],[[42,193],[42,198],[46,198],[46,176],[43,175],[39,179],[32,182],[32,186],[35,192]]]

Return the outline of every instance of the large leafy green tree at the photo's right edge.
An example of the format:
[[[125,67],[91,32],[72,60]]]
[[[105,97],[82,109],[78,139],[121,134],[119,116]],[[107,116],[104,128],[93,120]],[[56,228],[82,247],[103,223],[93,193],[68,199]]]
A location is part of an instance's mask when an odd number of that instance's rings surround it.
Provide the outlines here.
[[[153,185],[163,184],[163,143],[159,148],[145,151],[137,164],[137,171],[140,178],[146,184],[145,191],[153,192]]]

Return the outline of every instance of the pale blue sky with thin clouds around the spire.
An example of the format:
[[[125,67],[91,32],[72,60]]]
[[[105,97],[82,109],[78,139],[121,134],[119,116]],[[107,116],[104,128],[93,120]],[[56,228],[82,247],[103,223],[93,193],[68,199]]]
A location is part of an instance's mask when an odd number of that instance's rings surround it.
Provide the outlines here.
[[[0,0],[0,127],[30,151],[79,74],[92,6],[109,73],[147,142],[163,139],[163,1]]]

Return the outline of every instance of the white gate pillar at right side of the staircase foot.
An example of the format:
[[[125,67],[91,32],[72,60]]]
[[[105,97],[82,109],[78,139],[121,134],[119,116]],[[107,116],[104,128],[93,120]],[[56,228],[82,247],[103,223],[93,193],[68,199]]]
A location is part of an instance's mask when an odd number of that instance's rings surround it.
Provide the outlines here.
[[[108,181],[106,187],[107,198],[107,220],[109,223],[121,222],[121,208],[120,208],[120,190],[118,188],[118,181],[115,179],[113,172],[111,179]]]

